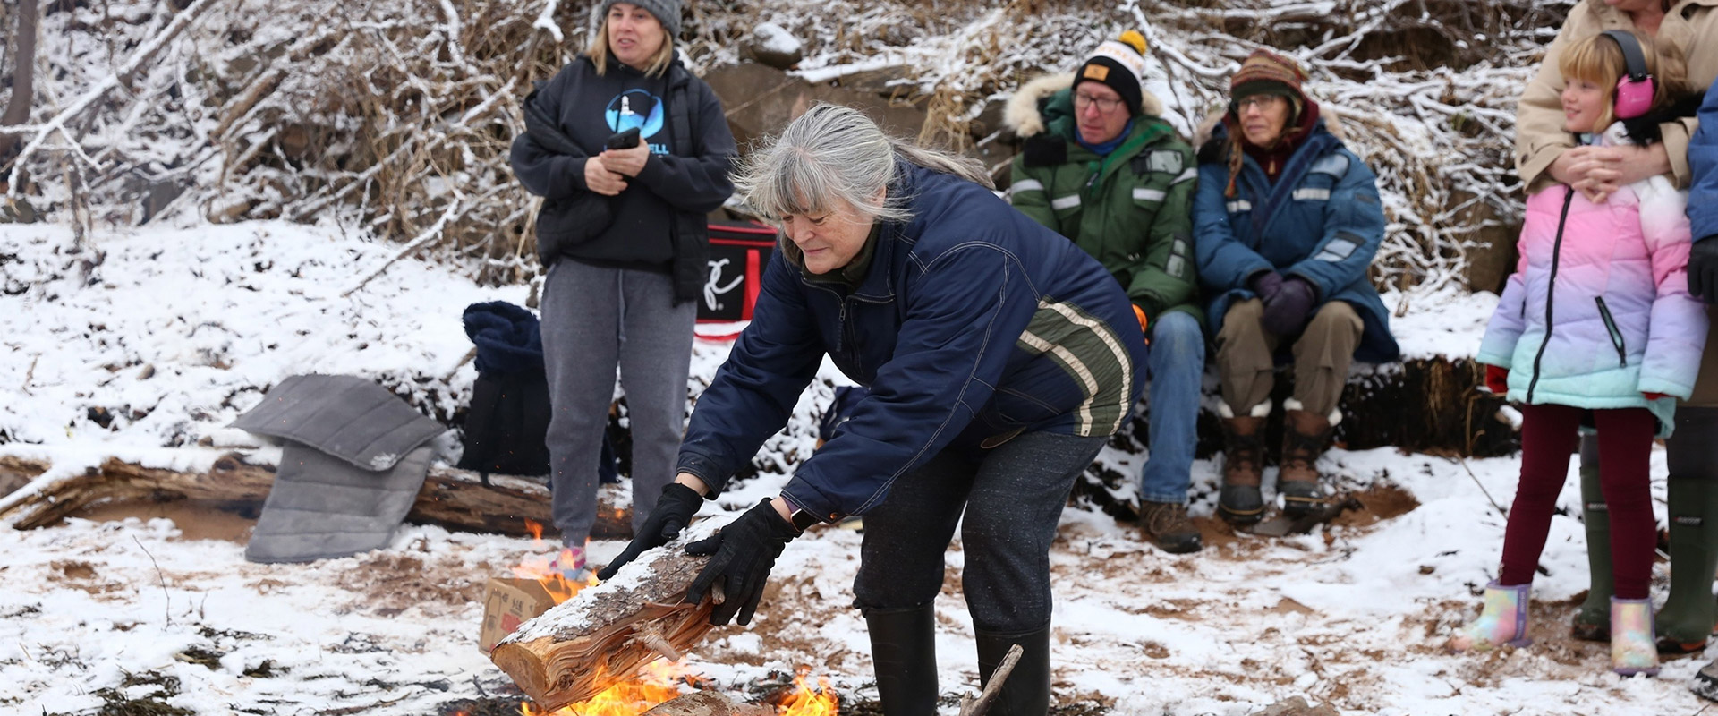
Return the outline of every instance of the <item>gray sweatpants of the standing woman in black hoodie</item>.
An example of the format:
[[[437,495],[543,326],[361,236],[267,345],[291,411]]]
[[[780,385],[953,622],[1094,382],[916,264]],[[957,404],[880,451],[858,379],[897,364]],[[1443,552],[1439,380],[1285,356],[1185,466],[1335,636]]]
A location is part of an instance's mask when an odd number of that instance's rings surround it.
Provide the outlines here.
[[[555,261],[543,282],[543,367],[548,374],[550,515],[567,546],[596,522],[601,457],[615,367],[632,424],[632,527],[656,507],[685,433],[685,376],[698,304],[673,300],[665,273]]]

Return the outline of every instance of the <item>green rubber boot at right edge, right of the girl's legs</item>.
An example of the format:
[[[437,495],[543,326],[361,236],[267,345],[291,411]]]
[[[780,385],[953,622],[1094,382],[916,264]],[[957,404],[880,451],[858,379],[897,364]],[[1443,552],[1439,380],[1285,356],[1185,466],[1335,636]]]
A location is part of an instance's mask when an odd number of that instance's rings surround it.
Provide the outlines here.
[[[1718,572],[1718,457],[1713,445],[1718,409],[1677,410],[1677,433],[1666,445],[1670,464],[1670,598],[1658,611],[1658,652],[1696,654],[1718,620],[1713,573]]]

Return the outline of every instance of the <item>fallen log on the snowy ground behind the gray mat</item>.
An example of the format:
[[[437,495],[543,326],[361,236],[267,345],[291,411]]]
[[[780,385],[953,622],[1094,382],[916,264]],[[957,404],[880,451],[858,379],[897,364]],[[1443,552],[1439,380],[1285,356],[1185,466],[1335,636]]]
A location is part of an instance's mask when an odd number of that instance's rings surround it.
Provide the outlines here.
[[[0,458],[0,477],[17,482],[34,479],[50,465]],[[40,482],[40,481],[38,481]],[[225,510],[256,513],[275,484],[273,465],[253,465],[239,453],[215,460],[208,472],[175,472],[108,458],[100,467],[64,476],[46,484],[31,482],[0,500],[0,524],[34,529],[57,524],[96,503],[192,500]],[[526,520],[553,531],[548,488],[509,476],[483,476],[454,467],[431,467],[417,493],[409,522],[433,524],[464,532],[510,536],[531,534]],[[603,503],[596,510],[593,537],[632,536],[632,510]]]

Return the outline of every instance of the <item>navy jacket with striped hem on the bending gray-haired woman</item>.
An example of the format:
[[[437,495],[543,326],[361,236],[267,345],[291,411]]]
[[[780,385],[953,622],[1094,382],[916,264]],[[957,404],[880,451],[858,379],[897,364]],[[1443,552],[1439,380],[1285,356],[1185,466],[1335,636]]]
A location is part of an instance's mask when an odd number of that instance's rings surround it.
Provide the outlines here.
[[[720,491],[787,424],[828,355],[871,390],[783,495],[828,520],[883,501],[945,448],[1026,433],[1113,434],[1144,376],[1127,295],[1098,261],[1005,201],[900,163],[854,290],[809,282],[777,251],[752,323],[698,400],[680,470]]]

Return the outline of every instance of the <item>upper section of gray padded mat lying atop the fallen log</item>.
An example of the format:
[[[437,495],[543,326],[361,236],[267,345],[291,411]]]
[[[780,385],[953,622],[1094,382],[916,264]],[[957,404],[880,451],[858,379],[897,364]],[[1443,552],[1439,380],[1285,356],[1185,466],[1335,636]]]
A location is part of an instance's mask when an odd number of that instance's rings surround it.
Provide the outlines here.
[[[356,376],[287,378],[232,428],[304,443],[368,470],[393,467],[447,429]]]

